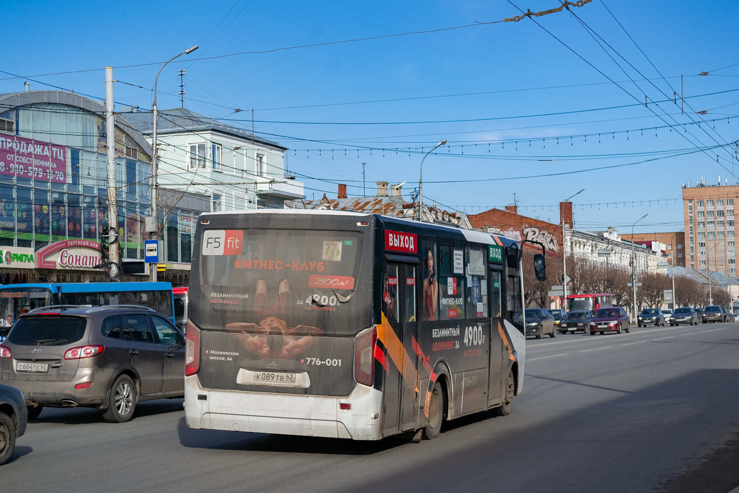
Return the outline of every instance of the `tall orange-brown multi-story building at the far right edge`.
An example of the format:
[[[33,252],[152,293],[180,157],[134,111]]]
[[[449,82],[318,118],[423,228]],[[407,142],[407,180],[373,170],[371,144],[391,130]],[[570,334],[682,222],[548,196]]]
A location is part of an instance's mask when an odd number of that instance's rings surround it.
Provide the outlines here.
[[[736,276],[735,200],[737,185],[683,185],[685,267]]]

